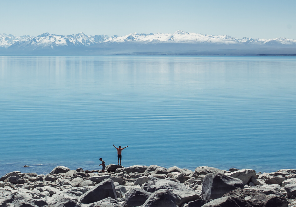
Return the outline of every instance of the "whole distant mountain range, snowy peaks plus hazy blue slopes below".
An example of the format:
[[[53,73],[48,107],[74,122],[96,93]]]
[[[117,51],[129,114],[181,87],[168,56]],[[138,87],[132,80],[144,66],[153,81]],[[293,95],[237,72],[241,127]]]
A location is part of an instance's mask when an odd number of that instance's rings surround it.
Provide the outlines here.
[[[294,55],[296,40],[238,39],[228,35],[130,33],[125,36],[0,34],[2,55]]]

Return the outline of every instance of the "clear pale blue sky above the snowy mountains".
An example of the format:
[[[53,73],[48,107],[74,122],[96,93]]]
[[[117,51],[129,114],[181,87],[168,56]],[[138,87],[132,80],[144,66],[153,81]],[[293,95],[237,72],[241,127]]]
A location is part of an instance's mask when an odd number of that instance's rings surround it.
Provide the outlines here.
[[[296,39],[296,0],[0,0],[0,33],[173,33]]]

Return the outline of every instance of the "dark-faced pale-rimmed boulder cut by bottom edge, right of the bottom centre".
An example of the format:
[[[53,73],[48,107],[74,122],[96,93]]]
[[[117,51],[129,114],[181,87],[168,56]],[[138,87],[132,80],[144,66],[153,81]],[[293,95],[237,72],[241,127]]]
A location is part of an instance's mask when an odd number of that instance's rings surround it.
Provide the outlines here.
[[[178,207],[170,190],[158,190],[154,192],[142,207]]]

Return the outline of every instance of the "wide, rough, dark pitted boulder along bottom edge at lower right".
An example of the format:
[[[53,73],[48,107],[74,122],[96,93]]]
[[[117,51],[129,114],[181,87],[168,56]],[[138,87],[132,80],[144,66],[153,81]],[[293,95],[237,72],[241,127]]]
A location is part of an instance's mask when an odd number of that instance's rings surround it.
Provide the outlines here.
[[[253,189],[235,189],[226,193],[240,207],[288,207],[287,199],[280,193],[265,195]]]

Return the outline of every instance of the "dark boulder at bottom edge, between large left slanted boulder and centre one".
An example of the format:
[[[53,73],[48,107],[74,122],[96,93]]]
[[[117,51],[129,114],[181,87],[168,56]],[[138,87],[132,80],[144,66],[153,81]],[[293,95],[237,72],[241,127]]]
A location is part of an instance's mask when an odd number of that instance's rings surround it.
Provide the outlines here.
[[[126,207],[137,207],[145,203],[151,193],[143,189],[132,189],[125,194]]]

